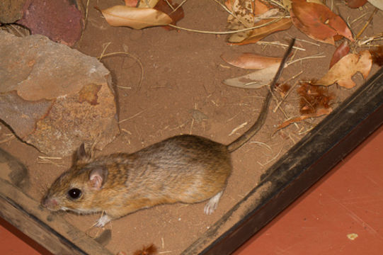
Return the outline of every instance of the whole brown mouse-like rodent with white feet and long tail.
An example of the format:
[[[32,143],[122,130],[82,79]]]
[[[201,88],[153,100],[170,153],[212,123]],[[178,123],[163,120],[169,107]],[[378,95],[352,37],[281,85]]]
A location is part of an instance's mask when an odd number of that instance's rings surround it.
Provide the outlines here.
[[[278,81],[293,39],[285,53],[256,123],[243,135],[222,145],[204,137],[178,135],[132,154],[110,154],[91,159],[84,144],[76,160],[52,184],[42,199],[50,210],[77,213],[103,212],[96,226],[142,208],[164,203],[199,203],[209,215],[222,196],[231,173],[230,153],[258,132],[265,122],[271,91]]]

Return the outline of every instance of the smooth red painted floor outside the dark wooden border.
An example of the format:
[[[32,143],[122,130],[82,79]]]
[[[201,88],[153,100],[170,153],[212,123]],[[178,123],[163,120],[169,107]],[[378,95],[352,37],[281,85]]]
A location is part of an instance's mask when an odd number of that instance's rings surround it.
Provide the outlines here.
[[[0,254],[47,254],[0,219]],[[383,254],[383,127],[235,255]]]

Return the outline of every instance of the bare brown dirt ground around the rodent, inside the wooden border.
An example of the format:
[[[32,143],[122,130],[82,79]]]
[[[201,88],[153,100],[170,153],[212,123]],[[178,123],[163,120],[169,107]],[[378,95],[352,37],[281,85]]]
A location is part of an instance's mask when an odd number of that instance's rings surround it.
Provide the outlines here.
[[[83,2],[86,4],[85,0]],[[359,10],[345,7],[343,1],[335,3],[341,16],[351,23],[350,28],[354,33],[358,33],[374,10],[370,4]],[[142,69],[132,57],[117,56],[102,60],[113,74],[113,84],[118,92],[121,135],[102,152],[96,152],[96,155],[135,152],[154,142],[180,134],[200,135],[227,144],[250,127],[259,113],[266,89],[238,89],[222,84],[224,79],[249,71],[231,67],[220,55],[224,52],[255,52],[281,57],[285,47],[258,44],[229,46],[224,35],[168,31],[164,28],[133,30],[111,27],[93,6],[104,9],[115,4],[122,4],[122,1],[90,1],[84,38],[77,49],[94,57],[101,55],[106,44],[109,45],[105,53],[127,51],[142,62],[144,78],[139,87]],[[178,22],[178,26],[207,31],[225,30],[227,13],[215,1],[189,0],[183,8],[185,18]],[[364,13],[367,14],[362,16]],[[360,16],[362,18],[353,22]],[[382,33],[382,17],[382,11],[378,11],[364,35]],[[297,50],[295,58],[308,57],[319,52],[324,52],[326,57],[291,64],[283,72],[281,81],[287,81],[301,71],[299,77],[289,80],[288,83],[293,85],[298,79],[319,79],[328,71],[335,47],[314,42],[293,26],[290,30],[274,33],[263,41],[288,44],[293,37],[300,39],[296,45],[305,49]],[[374,67],[371,74],[376,69]],[[360,75],[355,77],[355,81],[358,86],[363,82]],[[336,108],[355,89],[331,86],[331,92],[336,95],[332,108]],[[280,99],[278,103],[279,101]],[[180,254],[224,212],[246,196],[256,186],[263,171],[321,120],[308,119],[276,131],[284,120],[299,115],[296,89],[274,111],[276,106],[277,102],[273,101],[268,120],[256,137],[233,153],[234,170],[219,206],[212,215],[204,214],[205,203],[161,205],[140,210],[105,226],[105,229],[111,229],[112,232],[112,238],[106,247],[113,253],[125,251],[126,254],[132,254],[143,245],[154,244],[160,254]],[[241,125],[244,127],[236,130]],[[3,124],[0,128],[3,140],[11,131]],[[233,130],[235,131],[232,133]],[[38,156],[42,154],[17,139],[2,142],[0,146],[28,166],[33,184],[30,196],[36,200],[42,198],[50,183],[71,162],[70,157],[67,157],[55,160],[55,164],[40,164]],[[100,215],[62,213],[57,217],[65,217],[68,222],[92,237],[100,234],[100,230],[91,228]]]

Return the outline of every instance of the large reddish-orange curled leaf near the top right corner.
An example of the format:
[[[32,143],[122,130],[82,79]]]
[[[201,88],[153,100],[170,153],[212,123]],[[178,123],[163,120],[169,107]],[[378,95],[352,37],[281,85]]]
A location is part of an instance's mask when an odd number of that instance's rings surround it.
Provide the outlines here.
[[[309,38],[334,45],[334,36],[343,35],[354,41],[345,21],[323,4],[292,0],[292,23]]]

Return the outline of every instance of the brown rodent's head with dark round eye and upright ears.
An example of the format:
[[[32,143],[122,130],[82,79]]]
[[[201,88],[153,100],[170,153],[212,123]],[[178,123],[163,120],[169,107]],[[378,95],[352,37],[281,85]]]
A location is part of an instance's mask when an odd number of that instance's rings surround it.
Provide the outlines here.
[[[98,193],[107,178],[108,169],[92,164],[82,144],[76,152],[73,166],[52,183],[41,204],[52,211],[98,212],[101,210],[98,207]]]

